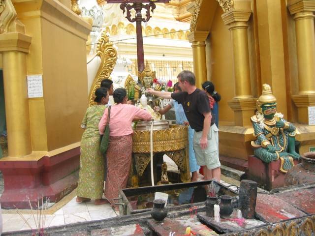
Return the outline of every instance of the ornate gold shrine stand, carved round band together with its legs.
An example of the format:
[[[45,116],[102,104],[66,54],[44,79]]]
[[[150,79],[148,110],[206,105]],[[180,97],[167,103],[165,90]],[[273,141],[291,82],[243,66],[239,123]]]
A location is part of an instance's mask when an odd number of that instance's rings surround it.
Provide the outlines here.
[[[150,131],[135,130],[132,136],[132,165],[131,181],[132,187],[138,187],[138,178],[143,175],[144,170],[150,163]],[[156,158],[159,155],[166,154],[169,156],[181,172],[183,182],[190,181],[189,173],[189,149],[188,149],[188,129],[184,125],[170,125],[169,129],[153,131],[153,155]],[[154,167],[156,168],[156,167]],[[134,171],[136,173],[134,173]],[[137,176],[137,177],[135,177]],[[160,177],[157,176],[155,182]]]

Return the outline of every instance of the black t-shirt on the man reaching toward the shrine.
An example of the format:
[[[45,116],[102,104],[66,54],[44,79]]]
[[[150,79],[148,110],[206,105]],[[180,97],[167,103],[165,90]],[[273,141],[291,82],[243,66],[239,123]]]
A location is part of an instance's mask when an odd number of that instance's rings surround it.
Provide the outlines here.
[[[207,94],[200,89],[196,89],[191,94],[187,92],[173,92],[171,97],[183,105],[191,128],[197,132],[202,131],[205,119],[203,114],[211,112]]]

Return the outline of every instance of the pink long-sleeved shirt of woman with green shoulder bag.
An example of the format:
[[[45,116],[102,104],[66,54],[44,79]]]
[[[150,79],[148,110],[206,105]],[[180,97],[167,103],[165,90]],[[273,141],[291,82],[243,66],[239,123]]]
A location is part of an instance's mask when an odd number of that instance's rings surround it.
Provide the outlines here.
[[[98,124],[99,133],[103,134],[105,125],[107,124],[108,108],[106,108],[103,117]],[[132,134],[131,122],[134,117],[144,120],[151,120],[152,116],[146,110],[128,104],[117,104],[112,106],[110,110],[110,136],[125,136]]]

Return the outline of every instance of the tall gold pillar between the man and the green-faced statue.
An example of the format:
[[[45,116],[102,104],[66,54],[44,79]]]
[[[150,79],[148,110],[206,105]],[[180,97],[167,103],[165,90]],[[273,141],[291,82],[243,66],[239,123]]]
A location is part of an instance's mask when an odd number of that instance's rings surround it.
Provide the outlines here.
[[[251,126],[250,118],[255,110],[256,98],[252,97],[247,36],[247,22],[251,13],[251,10],[231,9],[222,15],[224,24],[231,31],[233,45],[235,96],[228,104],[234,111],[236,126]]]

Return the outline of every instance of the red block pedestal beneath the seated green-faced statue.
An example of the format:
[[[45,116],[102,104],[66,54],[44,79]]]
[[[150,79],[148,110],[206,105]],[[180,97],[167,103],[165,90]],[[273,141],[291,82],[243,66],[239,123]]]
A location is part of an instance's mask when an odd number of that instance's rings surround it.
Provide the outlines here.
[[[298,164],[294,160],[294,165]],[[248,170],[246,172],[249,179],[254,180],[260,187],[270,191],[274,188],[284,186],[285,173],[280,171],[281,160],[265,163],[256,156],[248,157]]]

